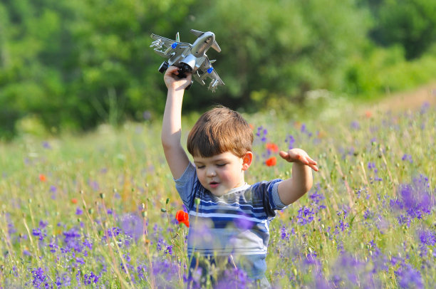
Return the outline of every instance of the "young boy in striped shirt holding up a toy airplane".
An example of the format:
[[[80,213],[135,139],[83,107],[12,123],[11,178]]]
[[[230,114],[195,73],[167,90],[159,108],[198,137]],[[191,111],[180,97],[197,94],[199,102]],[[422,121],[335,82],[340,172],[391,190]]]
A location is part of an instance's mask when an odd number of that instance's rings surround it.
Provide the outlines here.
[[[201,269],[202,275],[215,276],[211,282],[216,285],[217,268],[224,263],[267,287],[269,222],[276,210],[311,189],[316,162],[302,149],[282,151],[280,157],[294,163],[290,179],[246,184],[244,172],[253,159],[251,128],[238,112],[215,107],[197,120],[188,136],[192,164],[180,143],[182,99],[192,75],[180,79],[177,74],[174,66],[165,73],[168,94],[161,138],[177,191],[189,211],[190,276]]]

